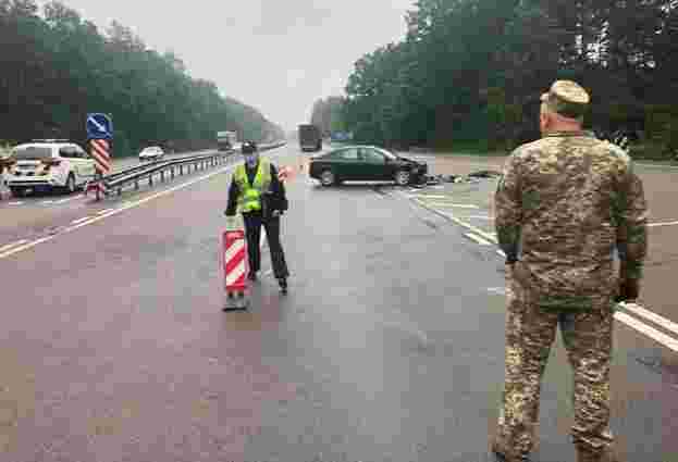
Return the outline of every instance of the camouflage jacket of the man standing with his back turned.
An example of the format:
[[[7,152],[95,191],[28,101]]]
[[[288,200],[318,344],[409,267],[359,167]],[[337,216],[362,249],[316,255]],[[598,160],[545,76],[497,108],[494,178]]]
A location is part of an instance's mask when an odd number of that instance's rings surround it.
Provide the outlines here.
[[[495,192],[500,246],[544,305],[613,296],[615,248],[624,277],[640,278],[646,214],[629,155],[584,132],[518,147]]]

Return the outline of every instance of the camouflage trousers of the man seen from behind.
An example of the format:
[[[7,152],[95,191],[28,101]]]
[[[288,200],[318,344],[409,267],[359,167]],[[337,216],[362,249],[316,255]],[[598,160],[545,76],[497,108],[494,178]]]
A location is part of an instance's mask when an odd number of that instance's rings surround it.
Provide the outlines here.
[[[603,297],[588,311],[545,311],[510,276],[507,295],[506,370],[497,441],[515,451],[516,458],[532,450],[542,376],[559,325],[575,376],[572,441],[583,453],[608,449],[613,442],[608,427],[612,300]]]

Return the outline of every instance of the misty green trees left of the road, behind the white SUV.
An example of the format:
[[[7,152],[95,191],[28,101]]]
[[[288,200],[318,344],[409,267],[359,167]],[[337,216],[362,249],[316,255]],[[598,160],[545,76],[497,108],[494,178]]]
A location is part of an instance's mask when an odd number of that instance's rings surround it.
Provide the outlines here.
[[[110,114],[113,155],[159,143],[211,148],[218,130],[268,141],[282,129],[255,108],[193,78],[172,52],[148,49],[118,22],[97,26],[52,1],[0,0],[0,141],[86,141],[87,113]]]

